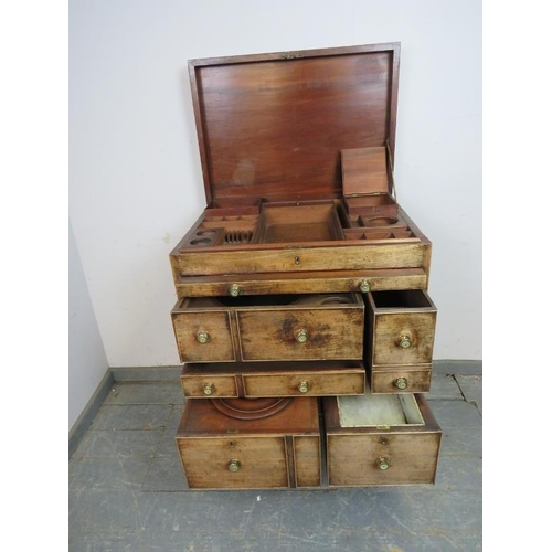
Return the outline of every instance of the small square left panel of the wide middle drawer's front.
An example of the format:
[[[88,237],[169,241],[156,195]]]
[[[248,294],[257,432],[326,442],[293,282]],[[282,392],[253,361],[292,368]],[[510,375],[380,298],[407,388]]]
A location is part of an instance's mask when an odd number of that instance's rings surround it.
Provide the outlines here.
[[[229,312],[173,312],[172,325],[182,362],[235,360]]]

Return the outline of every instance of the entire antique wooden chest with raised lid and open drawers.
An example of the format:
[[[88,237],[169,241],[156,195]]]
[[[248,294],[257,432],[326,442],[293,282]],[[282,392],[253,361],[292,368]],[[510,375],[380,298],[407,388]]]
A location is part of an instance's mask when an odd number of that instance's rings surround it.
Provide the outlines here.
[[[319,487],[322,444],[330,486],[435,476],[439,428],[412,394],[431,386],[432,244],[396,200],[399,54],[189,62],[206,208],[170,263],[191,488]],[[402,425],[343,425],[367,401],[404,406]]]

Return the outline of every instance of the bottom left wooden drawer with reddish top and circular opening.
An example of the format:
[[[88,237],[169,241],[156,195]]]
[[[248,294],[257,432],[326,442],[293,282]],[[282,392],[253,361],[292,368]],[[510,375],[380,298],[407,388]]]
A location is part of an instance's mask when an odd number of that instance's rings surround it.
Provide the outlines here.
[[[209,400],[189,401],[176,442],[191,489],[320,486],[316,399],[290,400],[258,420],[226,416]]]

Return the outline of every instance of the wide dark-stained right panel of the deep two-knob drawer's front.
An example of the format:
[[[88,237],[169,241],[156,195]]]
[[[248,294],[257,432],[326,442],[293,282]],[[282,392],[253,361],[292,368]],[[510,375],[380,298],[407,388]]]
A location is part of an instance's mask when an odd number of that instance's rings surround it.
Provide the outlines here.
[[[245,361],[362,359],[362,309],[238,311]]]

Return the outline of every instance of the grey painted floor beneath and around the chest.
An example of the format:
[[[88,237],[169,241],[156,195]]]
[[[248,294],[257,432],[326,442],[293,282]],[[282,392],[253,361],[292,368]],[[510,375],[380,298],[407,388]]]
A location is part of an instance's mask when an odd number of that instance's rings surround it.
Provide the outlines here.
[[[481,376],[434,374],[435,485],[189,491],[178,381],[118,382],[70,459],[70,551],[481,550]]]

